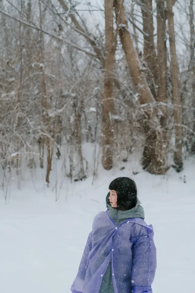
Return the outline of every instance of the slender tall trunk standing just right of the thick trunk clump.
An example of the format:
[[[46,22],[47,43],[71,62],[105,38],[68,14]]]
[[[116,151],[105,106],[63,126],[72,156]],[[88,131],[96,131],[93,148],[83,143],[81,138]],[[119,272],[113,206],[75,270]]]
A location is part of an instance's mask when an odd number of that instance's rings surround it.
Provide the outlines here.
[[[179,66],[177,62],[175,31],[174,31],[174,13],[172,11],[175,0],[167,0],[167,18],[168,18],[168,33],[170,43],[170,60],[171,60],[171,74],[172,74],[172,93],[174,103],[174,121],[175,121],[175,152],[174,162],[180,169],[183,168],[182,159],[182,99],[179,94]]]

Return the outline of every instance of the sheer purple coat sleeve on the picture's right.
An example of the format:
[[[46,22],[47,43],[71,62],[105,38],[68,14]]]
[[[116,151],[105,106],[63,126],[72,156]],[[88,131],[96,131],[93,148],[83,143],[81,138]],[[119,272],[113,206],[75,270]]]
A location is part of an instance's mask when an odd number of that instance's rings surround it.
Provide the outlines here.
[[[156,272],[156,247],[153,229],[149,227],[142,226],[133,245],[132,293],[152,293],[151,285]]]

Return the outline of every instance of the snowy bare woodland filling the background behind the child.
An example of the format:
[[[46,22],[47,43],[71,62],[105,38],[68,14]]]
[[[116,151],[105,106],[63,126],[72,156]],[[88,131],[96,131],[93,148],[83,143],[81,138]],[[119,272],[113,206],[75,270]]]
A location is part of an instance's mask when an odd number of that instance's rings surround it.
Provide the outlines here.
[[[194,0],[1,0],[2,186],[55,161],[78,181],[140,150],[151,174],[195,154]],[[91,159],[84,156],[84,149]]]

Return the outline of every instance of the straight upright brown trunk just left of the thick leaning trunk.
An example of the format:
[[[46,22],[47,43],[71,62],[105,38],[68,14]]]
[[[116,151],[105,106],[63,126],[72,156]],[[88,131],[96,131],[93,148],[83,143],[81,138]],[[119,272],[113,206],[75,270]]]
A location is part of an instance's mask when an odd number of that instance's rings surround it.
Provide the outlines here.
[[[113,71],[115,44],[113,31],[113,0],[105,0],[105,82],[102,95],[102,165],[106,170],[113,166]]]

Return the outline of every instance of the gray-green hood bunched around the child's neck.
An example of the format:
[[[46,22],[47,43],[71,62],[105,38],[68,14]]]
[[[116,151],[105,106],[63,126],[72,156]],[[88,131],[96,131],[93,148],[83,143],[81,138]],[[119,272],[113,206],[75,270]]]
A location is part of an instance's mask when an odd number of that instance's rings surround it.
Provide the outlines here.
[[[109,209],[109,214],[112,219],[117,210],[117,220],[126,220],[132,218],[141,218],[144,220],[144,208],[140,204],[141,202],[137,198],[136,206],[127,211],[120,211],[116,208],[112,208],[111,204],[108,204],[108,202],[106,203],[106,207]]]

